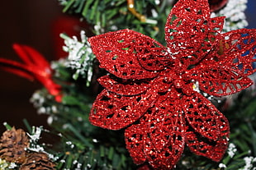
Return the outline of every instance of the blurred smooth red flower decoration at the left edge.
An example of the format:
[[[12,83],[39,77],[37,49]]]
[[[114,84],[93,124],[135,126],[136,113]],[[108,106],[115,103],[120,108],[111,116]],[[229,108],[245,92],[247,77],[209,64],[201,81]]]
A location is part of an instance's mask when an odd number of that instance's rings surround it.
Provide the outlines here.
[[[24,63],[0,58],[0,68],[18,76],[23,76],[28,80],[38,80],[50,94],[55,96],[57,102],[61,102],[61,87],[52,80],[52,69],[45,57],[34,48],[26,45],[13,44],[13,48]]]

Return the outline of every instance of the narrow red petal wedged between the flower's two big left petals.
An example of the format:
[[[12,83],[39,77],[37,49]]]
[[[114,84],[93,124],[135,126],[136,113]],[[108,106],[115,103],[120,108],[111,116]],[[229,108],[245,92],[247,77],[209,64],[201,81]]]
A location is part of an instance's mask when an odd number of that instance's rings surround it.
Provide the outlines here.
[[[112,79],[110,76],[102,76],[98,79],[98,82],[107,90],[110,90],[113,93],[121,95],[136,95],[142,94],[145,90],[149,89],[149,81],[122,81],[118,82],[117,80]]]

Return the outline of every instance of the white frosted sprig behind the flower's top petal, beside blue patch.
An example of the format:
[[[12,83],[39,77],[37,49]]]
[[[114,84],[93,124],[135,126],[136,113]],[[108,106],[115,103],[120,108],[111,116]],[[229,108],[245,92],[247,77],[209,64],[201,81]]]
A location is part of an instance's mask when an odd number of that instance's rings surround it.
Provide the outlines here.
[[[211,17],[225,16],[223,32],[238,30],[248,25],[244,11],[248,0],[229,0],[220,11],[212,12]]]

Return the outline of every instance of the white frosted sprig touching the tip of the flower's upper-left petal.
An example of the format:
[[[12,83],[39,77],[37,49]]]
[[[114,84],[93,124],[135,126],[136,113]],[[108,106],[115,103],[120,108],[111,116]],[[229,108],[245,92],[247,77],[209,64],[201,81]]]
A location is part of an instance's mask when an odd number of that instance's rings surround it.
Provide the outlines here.
[[[81,40],[79,41],[76,36],[70,38],[66,34],[60,34],[65,44],[63,50],[69,53],[65,62],[66,67],[71,67],[75,70],[73,74],[74,80],[77,80],[78,76],[87,77],[87,85],[89,85],[92,79],[92,61],[95,56],[83,30],[80,32],[80,36]]]

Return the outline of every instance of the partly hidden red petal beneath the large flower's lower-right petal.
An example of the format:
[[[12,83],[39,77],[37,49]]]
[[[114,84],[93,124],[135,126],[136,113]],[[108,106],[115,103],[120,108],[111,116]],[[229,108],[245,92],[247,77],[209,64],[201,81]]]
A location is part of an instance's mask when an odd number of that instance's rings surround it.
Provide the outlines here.
[[[186,135],[186,143],[193,153],[219,162],[228,147],[228,137],[228,133],[223,133],[219,136],[219,140],[212,141],[203,138],[193,131],[188,131]]]

